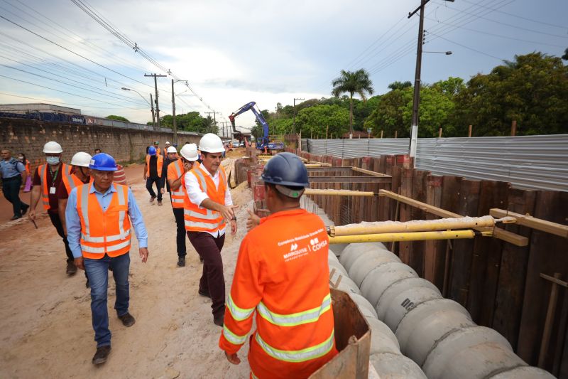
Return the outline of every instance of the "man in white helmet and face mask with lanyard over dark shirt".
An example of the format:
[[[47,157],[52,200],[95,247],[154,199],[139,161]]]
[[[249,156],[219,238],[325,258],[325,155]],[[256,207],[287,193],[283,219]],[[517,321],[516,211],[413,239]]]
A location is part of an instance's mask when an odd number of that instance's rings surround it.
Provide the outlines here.
[[[50,141],[43,145],[43,153],[45,154],[46,164],[42,164],[35,169],[33,174],[33,189],[31,191],[31,208],[28,217],[35,220],[35,207],[41,198],[43,209],[48,211],[51,223],[57,230],[58,235],[65,244],[65,253],[67,254],[67,274],[75,274],[77,269],[73,264],[73,254],[67,242],[67,236],[58,213],[58,196],[57,188],[62,181],[62,176],[70,174],[71,166],[62,163],[61,154],[63,149],[61,145],[55,141]]]

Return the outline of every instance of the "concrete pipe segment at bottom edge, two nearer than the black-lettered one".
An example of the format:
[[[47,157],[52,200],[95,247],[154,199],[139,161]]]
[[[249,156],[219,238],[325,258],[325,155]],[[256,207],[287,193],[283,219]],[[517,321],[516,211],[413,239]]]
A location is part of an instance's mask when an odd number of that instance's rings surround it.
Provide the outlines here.
[[[431,379],[485,378],[494,370],[526,365],[505,337],[485,326],[470,326],[442,337],[422,365]]]

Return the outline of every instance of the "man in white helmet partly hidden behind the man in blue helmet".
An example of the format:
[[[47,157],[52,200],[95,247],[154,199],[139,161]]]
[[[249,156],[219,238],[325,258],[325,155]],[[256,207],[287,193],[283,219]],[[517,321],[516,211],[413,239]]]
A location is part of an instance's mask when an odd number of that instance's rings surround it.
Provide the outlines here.
[[[67,198],[69,198],[69,194],[71,193],[73,188],[89,183],[89,180],[91,179],[89,173],[90,163],[91,154],[87,154],[82,151],[75,154],[71,159],[70,174],[65,174],[61,177],[61,183],[59,183],[58,189],[57,191],[55,191],[55,194],[58,196],[59,218],[61,220],[61,224],[63,225],[65,235],[67,235],[67,223],[65,222],[65,208],[67,207]],[[77,267],[75,267],[75,270],[70,271],[71,272],[67,273],[75,274],[75,272],[77,272]],[[86,272],[85,276],[87,276]],[[89,287],[88,278],[87,287]]]

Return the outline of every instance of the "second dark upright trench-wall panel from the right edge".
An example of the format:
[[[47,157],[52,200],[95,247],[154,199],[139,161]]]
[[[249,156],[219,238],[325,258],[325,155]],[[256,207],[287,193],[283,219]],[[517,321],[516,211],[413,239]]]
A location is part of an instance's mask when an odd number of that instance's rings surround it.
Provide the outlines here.
[[[518,213],[533,213],[535,210],[535,191],[511,188],[508,196],[508,210]],[[530,238],[532,230],[518,224],[507,224],[506,230]],[[520,315],[523,311],[525,277],[527,274],[529,247],[503,245],[501,269],[495,298],[495,314],[491,327],[503,334],[517,348]]]

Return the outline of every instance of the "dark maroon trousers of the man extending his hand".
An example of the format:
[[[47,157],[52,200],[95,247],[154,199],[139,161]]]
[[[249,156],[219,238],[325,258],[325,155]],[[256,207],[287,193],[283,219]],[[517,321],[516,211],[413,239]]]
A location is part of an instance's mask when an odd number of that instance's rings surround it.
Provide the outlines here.
[[[191,244],[203,258],[200,291],[209,292],[211,295],[213,317],[223,316],[225,313],[225,277],[221,250],[225,242],[225,235],[215,238],[209,233],[187,232],[187,237],[190,237]]]

